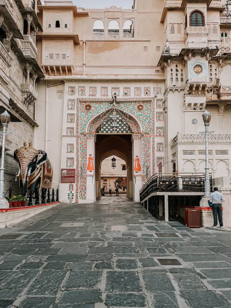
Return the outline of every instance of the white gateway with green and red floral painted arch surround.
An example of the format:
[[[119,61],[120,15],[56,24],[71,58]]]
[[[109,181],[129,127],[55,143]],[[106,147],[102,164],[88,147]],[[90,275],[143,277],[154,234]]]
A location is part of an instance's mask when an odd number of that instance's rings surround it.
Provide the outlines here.
[[[73,88],[72,92],[70,88]],[[68,87],[69,95],[75,94],[74,88]],[[70,101],[71,99],[68,100],[68,107]],[[101,163],[113,155],[113,152],[126,162],[127,183],[120,186],[127,190],[128,197],[139,201],[142,186],[155,174],[159,161],[164,164],[161,153],[164,148],[162,99],[116,96],[112,99],[77,98],[72,106],[75,114],[67,114],[70,124],[67,124],[67,134],[62,139],[61,161],[67,160],[67,167],[76,168],[73,202],[92,203],[100,197]],[[71,125],[72,121],[75,128]],[[76,158],[72,158],[69,149],[73,151],[75,145]],[[159,152],[157,156],[155,148]],[[68,183],[60,185],[60,199],[65,200]]]

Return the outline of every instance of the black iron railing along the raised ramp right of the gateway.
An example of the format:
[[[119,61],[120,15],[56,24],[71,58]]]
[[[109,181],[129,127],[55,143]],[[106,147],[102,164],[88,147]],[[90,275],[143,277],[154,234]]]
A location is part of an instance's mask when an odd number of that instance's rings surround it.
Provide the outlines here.
[[[156,192],[204,192],[205,175],[160,175],[155,174],[140,190],[140,202]],[[212,191],[212,176],[210,176]]]

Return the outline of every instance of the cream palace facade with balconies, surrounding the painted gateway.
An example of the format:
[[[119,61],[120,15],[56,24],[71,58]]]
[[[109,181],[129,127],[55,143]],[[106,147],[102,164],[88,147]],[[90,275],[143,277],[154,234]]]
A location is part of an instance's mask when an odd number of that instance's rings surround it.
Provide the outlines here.
[[[229,192],[230,6],[224,0],[134,0],[131,9],[39,3],[31,70],[39,63],[40,75],[30,125],[34,147],[52,161],[61,201],[68,201],[70,184],[73,203],[99,198],[101,164],[113,153],[126,163],[127,195],[136,202],[160,163],[161,172],[204,173],[205,110],[212,113],[213,183]],[[29,84],[30,74],[32,81],[38,76],[28,70]]]

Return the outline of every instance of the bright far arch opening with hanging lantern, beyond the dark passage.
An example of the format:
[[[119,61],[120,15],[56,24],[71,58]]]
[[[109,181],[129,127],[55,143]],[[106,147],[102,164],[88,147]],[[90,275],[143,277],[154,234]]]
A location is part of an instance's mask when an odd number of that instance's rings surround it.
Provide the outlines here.
[[[115,166],[112,167],[112,159],[115,158]],[[110,195],[111,186],[112,196],[116,195],[115,187],[118,186],[120,195],[127,194],[127,168],[125,160],[118,156],[109,156],[101,163],[101,189],[105,195]]]

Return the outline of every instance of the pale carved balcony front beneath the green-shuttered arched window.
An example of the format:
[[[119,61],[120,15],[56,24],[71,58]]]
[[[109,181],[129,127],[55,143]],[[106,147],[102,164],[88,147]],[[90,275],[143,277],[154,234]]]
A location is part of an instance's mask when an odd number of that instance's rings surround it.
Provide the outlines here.
[[[184,32],[185,48],[206,48],[208,45],[209,27],[188,26]]]

